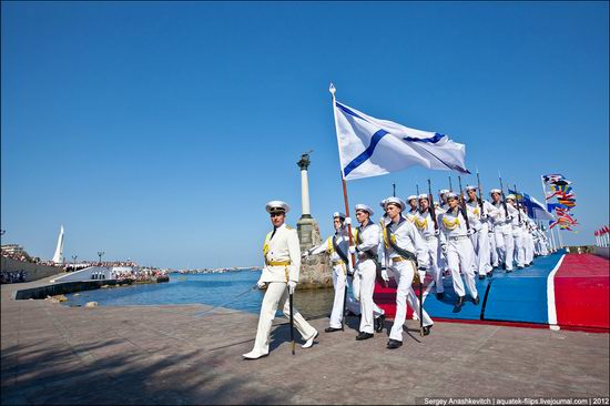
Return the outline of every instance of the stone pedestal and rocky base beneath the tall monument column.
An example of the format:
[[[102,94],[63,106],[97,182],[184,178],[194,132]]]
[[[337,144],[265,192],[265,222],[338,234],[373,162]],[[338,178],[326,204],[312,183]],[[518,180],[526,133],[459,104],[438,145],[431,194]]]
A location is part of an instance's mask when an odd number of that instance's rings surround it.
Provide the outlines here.
[[[301,252],[319,245],[319,226],[309,214],[304,214],[296,222],[296,232],[301,243]],[[301,263],[301,276],[297,288],[318,288],[333,286],[333,270],[326,253],[311,256]]]

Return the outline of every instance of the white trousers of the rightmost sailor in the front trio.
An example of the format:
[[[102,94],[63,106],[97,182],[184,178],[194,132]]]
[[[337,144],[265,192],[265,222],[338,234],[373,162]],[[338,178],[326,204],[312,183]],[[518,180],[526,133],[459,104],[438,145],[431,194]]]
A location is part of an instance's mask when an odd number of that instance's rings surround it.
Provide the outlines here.
[[[389,332],[390,339],[403,341],[403,325],[407,318],[407,302],[414,312],[419,316],[419,300],[413,291],[413,276],[415,274],[415,264],[411,261],[395,262],[390,265],[390,270],[394,272],[394,278],[398,287],[396,288],[396,316],[394,316],[394,324]],[[424,325],[429,326],[433,324],[433,319],[426,313],[421,311],[424,316]]]

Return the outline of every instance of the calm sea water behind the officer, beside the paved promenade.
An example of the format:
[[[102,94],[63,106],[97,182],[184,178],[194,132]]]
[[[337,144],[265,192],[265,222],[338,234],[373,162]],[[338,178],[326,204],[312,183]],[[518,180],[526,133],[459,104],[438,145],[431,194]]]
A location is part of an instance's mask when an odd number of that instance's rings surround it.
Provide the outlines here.
[[[69,306],[98,302],[100,306],[204,304],[243,312],[258,313],[264,291],[252,288],[261,271],[234,271],[210,274],[170,274],[167,283],[133,284],[129,286],[83,291],[65,295]],[[242,296],[232,301],[232,298]],[[332,288],[297,291],[295,307],[305,317],[322,317],[331,313]]]

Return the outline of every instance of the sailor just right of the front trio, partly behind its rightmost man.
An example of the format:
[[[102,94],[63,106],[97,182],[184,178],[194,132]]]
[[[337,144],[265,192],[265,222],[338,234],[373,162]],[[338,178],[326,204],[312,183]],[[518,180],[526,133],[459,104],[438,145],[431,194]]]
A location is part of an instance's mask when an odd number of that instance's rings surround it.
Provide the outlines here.
[[[417,196],[419,200],[419,212],[415,217],[415,226],[424,240],[425,251],[427,253],[428,271],[433,275],[436,286],[436,297],[440,301],[445,295],[445,287],[443,286],[443,273],[438,267],[438,260],[440,257],[440,250],[438,243],[438,230],[435,230],[436,219],[433,219],[433,214],[429,211],[430,202],[428,195],[423,193]]]

